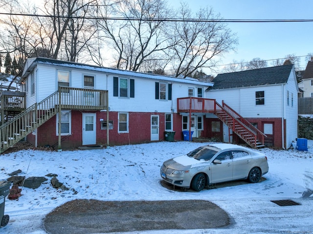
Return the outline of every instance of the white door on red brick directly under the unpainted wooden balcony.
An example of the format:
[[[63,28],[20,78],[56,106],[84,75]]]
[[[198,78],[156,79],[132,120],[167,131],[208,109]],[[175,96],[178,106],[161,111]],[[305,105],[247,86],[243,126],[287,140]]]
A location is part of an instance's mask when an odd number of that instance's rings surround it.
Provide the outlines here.
[[[96,114],[83,113],[83,146],[96,144]]]

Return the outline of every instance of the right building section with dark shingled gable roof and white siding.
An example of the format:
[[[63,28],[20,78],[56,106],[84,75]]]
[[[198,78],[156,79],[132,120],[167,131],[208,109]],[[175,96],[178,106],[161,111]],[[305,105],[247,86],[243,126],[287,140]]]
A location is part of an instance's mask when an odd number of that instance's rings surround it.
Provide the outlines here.
[[[298,86],[294,67],[282,65],[219,74],[206,97],[224,102],[267,137],[265,145],[288,149],[297,138]],[[207,115],[209,117],[209,115]],[[212,123],[217,119],[211,114]],[[216,125],[216,123],[215,123]],[[223,128],[224,141],[235,140]]]

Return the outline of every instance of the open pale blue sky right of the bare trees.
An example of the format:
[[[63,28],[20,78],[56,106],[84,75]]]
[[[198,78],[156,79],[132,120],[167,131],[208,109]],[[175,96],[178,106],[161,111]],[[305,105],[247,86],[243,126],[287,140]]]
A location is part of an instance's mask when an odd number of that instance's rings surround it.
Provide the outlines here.
[[[180,0],[169,0],[178,5]],[[201,6],[212,6],[223,19],[233,20],[312,20],[313,0],[185,0],[197,11]],[[233,60],[250,61],[285,58],[288,54],[306,56],[313,53],[313,22],[229,22],[228,27],[237,33],[237,53],[225,55],[222,64]],[[271,65],[271,61],[268,61]],[[307,62],[301,58],[301,68]]]

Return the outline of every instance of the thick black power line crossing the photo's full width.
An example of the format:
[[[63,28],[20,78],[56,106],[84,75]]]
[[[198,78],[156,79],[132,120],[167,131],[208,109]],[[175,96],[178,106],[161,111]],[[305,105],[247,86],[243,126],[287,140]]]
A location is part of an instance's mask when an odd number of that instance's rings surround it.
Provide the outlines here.
[[[277,20],[237,20],[237,19],[180,19],[180,18],[127,18],[127,17],[86,17],[86,16],[56,16],[56,15],[38,15],[22,13],[4,13],[0,15],[9,16],[28,16],[28,17],[45,17],[45,18],[63,18],[63,19],[86,19],[86,20],[116,20],[116,21],[170,21],[170,22],[240,22],[240,23],[264,23],[264,22],[313,22],[313,19],[277,19]]]

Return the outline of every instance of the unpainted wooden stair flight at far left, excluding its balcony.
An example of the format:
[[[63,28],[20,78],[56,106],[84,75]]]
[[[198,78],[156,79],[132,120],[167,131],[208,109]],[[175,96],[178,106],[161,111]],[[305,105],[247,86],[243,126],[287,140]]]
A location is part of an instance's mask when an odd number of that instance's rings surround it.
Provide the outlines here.
[[[0,126],[0,152],[13,147],[29,133],[58,113],[58,91],[34,104]]]

